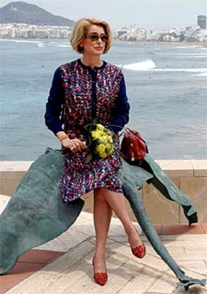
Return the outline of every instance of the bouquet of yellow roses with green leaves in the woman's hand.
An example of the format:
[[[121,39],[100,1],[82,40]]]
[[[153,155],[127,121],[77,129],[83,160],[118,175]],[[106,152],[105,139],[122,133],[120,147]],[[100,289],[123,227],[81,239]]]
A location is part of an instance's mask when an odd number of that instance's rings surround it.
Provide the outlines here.
[[[98,123],[97,118],[94,118],[91,123],[84,127],[78,126],[78,128],[81,129],[86,138],[86,148],[90,150],[90,153],[85,159],[85,163],[95,158],[104,159],[108,154],[113,153],[113,132]],[[65,148],[62,148],[62,153],[66,152]]]

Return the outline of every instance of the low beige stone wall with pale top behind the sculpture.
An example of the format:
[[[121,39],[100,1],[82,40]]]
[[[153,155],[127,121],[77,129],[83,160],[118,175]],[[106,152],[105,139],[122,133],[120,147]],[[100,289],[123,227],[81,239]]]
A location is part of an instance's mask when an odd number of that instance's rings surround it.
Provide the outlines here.
[[[155,160],[172,182],[190,197],[198,213],[198,221],[207,222],[207,160]],[[0,194],[12,196],[33,161],[0,161]],[[152,185],[144,183],[140,190],[146,213],[153,224],[186,224],[182,208],[165,199]],[[93,192],[82,196],[83,211],[92,212]],[[132,221],[136,221],[129,203],[126,206]],[[115,214],[113,213],[113,216]]]

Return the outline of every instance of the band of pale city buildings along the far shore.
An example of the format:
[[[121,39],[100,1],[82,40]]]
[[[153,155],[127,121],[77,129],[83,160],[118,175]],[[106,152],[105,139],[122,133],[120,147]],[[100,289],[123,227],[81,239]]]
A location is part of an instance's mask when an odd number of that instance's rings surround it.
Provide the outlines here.
[[[120,41],[152,41],[152,42],[207,42],[205,15],[198,15],[199,25],[182,28],[154,29],[123,26],[112,31],[112,38]],[[59,25],[34,25],[28,23],[0,23],[0,38],[43,38],[69,39],[71,27]]]

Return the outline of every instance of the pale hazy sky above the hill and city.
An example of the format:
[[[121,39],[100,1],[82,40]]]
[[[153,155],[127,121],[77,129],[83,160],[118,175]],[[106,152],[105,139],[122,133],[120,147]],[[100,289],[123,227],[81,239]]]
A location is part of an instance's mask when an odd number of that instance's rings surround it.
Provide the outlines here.
[[[13,0],[14,2],[15,0]],[[1,0],[0,7],[9,3]],[[28,0],[48,12],[77,21],[95,17],[112,29],[136,25],[154,29],[196,26],[197,15],[207,15],[207,0]]]

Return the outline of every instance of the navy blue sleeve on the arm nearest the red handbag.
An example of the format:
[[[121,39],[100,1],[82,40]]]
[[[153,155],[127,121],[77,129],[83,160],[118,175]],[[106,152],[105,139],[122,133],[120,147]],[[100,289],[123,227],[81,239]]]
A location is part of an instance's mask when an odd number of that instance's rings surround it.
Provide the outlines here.
[[[125,80],[124,76],[122,76],[122,80],[120,82],[120,91],[118,93],[115,108],[112,113],[113,118],[110,124],[111,126],[109,125],[107,128],[114,133],[121,131],[124,125],[127,124],[129,120],[129,109],[130,106],[128,103],[128,98],[126,96]]]

